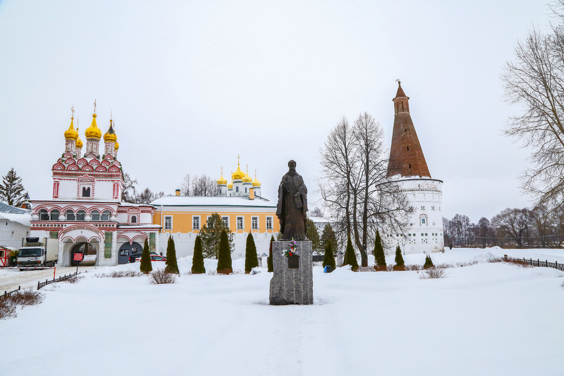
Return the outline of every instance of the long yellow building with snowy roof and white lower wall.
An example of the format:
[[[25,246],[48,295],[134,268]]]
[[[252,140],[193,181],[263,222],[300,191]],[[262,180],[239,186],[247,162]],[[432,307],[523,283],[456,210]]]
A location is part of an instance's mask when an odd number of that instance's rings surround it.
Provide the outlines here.
[[[245,197],[204,197],[180,196],[177,190],[176,196],[158,198],[151,205],[155,206],[153,224],[162,225],[161,232],[173,235],[179,258],[193,254],[196,236],[213,213],[219,214],[233,232],[235,250],[232,259],[245,256],[249,232],[253,234],[257,253],[262,255],[268,254],[272,235],[276,237],[280,231],[276,204],[255,198],[252,192]],[[166,242],[161,242],[159,252],[166,253]]]

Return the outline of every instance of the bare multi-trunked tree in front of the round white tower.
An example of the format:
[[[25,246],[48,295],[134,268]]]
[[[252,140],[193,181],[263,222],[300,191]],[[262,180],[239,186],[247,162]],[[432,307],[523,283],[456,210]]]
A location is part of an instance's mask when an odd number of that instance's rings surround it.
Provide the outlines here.
[[[341,232],[354,240],[362,266],[368,266],[376,229],[403,233],[410,212],[406,195],[386,176],[386,154],[384,131],[368,113],[352,127],[341,118],[320,150],[319,192],[324,205],[339,214]]]

